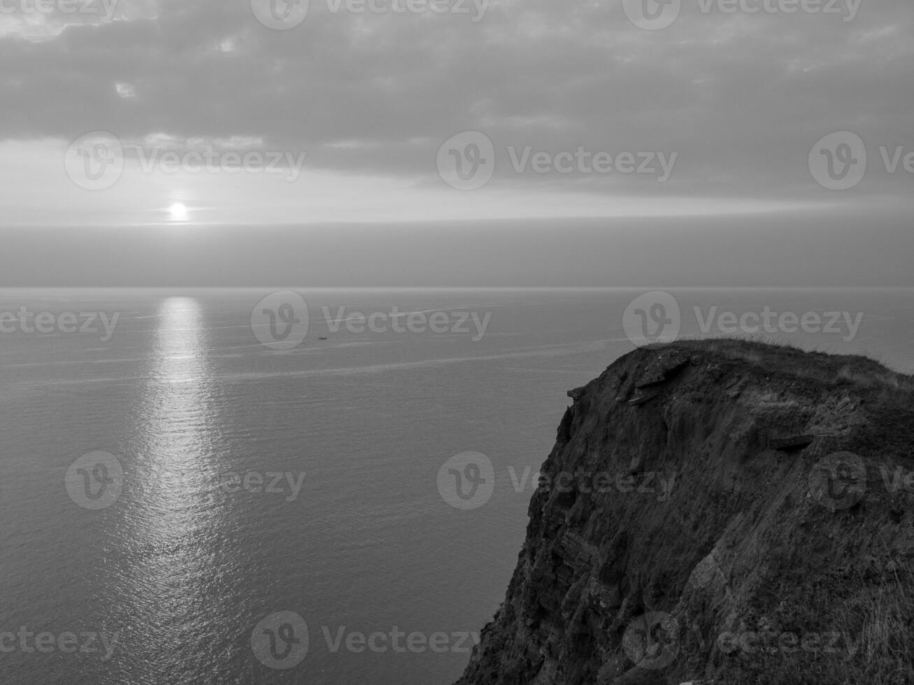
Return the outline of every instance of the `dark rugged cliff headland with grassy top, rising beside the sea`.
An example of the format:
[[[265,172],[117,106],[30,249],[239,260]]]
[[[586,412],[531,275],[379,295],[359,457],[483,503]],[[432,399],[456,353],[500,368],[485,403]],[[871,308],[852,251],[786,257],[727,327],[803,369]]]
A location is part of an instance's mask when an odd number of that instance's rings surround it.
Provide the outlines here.
[[[676,342],[569,395],[460,685],[914,681],[909,376]]]

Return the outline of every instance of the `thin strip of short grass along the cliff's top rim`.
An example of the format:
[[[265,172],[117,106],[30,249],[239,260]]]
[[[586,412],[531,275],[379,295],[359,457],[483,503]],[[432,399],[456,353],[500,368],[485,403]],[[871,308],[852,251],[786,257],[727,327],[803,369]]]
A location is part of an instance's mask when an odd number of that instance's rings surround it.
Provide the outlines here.
[[[893,371],[860,354],[830,354],[802,350],[785,342],[746,338],[689,338],[648,349],[673,347],[689,353],[714,353],[746,362],[770,374],[808,378],[827,385],[853,385],[879,399],[914,394],[914,376]]]

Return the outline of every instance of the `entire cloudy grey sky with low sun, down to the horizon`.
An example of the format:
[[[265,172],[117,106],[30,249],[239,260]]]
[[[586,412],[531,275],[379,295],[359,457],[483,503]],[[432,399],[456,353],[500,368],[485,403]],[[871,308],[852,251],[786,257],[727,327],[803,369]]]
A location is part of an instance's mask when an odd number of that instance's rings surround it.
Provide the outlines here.
[[[348,258],[246,281],[910,284],[912,26],[909,0],[0,0],[0,284],[168,258],[218,284],[260,248]],[[461,235],[526,258],[418,266]]]

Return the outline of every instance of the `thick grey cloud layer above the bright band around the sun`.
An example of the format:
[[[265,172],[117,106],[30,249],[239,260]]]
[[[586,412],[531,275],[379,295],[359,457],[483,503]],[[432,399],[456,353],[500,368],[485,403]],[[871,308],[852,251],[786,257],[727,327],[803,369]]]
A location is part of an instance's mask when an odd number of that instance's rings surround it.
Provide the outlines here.
[[[394,11],[406,0],[373,0],[376,11],[361,13],[355,0],[311,0],[302,23],[282,31],[239,0],[59,9],[85,1],[47,0],[58,11],[41,14],[28,11],[36,0],[4,0],[0,141],[51,155],[91,131],[178,149],[254,145],[307,153],[314,174],[384,178],[420,193],[445,187],[441,143],[478,131],[494,145],[487,192],[569,202],[902,201],[914,182],[903,161],[914,152],[909,0],[683,0],[658,30],[636,26],[628,0],[438,0],[441,14]],[[869,156],[851,195],[810,174],[814,143],[837,131],[856,132]],[[579,150],[677,156],[664,183],[579,166],[539,173],[529,163]],[[7,155],[0,178],[22,173],[11,164]]]

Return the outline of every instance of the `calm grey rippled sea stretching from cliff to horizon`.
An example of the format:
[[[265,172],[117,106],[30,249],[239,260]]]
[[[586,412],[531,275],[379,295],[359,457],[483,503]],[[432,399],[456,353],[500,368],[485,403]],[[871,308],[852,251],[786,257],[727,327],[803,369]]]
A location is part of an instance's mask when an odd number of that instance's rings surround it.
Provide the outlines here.
[[[0,290],[0,316],[25,307],[53,328],[0,319],[0,682],[460,675],[565,392],[632,349],[622,311],[640,291],[300,292],[307,336],[278,350],[251,327],[270,291]],[[912,290],[671,292],[685,335],[766,305],[859,313],[853,333],[760,337],[914,371]],[[352,319],[394,306],[444,312],[447,331]],[[96,332],[65,332],[64,312]],[[80,312],[118,319],[109,336]],[[481,339],[460,312],[491,314]],[[100,451],[115,461],[74,463]],[[437,483],[467,451],[491,460],[494,490],[460,509]]]

